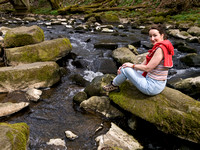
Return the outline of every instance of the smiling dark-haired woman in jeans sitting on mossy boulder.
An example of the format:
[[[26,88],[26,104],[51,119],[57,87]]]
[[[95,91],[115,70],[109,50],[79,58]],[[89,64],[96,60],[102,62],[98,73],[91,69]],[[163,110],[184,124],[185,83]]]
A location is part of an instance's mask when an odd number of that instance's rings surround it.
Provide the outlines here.
[[[130,80],[142,93],[156,95],[166,86],[168,70],[173,66],[174,47],[167,40],[162,25],[152,25],[149,30],[150,41],[154,45],[141,64],[124,63],[119,67],[117,76],[103,89],[107,92],[119,91],[119,85]],[[143,73],[141,73],[141,71]]]

